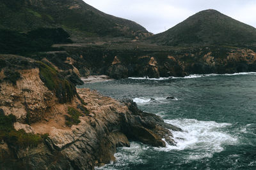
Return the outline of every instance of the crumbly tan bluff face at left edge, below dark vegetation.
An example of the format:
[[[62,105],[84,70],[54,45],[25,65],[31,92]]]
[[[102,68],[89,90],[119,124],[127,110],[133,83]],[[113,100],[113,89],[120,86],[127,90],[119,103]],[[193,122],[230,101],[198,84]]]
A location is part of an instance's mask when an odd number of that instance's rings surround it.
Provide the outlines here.
[[[16,85],[8,81],[1,83],[1,108],[6,115],[13,114],[25,123],[27,115],[31,122],[41,120],[45,111],[57,103],[54,94],[45,87],[39,77],[39,69],[20,70]]]

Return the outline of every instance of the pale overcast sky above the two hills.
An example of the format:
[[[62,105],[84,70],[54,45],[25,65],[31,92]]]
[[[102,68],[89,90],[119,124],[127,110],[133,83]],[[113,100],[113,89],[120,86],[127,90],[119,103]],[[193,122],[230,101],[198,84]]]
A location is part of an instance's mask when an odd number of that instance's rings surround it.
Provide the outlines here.
[[[256,0],[83,0],[104,13],[132,20],[154,34],[198,11],[214,9],[256,27]]]

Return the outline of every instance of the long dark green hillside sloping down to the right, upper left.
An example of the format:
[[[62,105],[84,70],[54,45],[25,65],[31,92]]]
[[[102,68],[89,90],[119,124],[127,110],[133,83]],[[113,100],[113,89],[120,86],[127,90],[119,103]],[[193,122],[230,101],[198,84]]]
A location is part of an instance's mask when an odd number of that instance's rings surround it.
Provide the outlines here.
[[[1,0],[0,29],[28,32],[61,27],[73,37],[150,35],[136,22],[113,17],[82,0]]]

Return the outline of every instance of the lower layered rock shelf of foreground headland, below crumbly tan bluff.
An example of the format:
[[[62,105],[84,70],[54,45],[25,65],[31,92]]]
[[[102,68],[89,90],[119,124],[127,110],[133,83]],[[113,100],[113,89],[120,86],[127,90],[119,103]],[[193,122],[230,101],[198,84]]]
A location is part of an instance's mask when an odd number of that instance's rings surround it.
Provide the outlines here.
[[[12,155],[17,157],[15,162],[22,162],[29,169],[38,169],[38,165],[39,169],[93,169],[115,161],[116,147],[129,146],[129,139],[165,146],[164,138],[170,145],[175,145],[170,130],[181,129],[165,124],[154,114],[138,110],[135,103],[119,103],[89,89],[77,91],[89,110],[88,115],[80,117],[81,123],[72,125],[70,129],[61,121],[58,125],[52,120],[31,124],[35,133],[49,133],[49,138],[34,148],[16,150]],[[60,110],[57,106],[54,109]],[[61,119],[61,114],[52,114],[51,117],[55,117],[53,120]],[[15,126],[28,129],[29,125]],[[1,152],[10,152],[10,149],[4,144]]]

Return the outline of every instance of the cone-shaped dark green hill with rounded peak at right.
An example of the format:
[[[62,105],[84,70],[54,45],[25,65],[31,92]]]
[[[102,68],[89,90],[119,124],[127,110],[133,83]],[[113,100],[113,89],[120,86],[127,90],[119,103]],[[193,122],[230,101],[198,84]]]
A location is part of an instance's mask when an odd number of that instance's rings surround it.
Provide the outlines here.
[[[204,10],[150,39],[169,46],[251,45],[256,29],[219,11]]]

